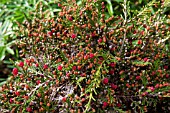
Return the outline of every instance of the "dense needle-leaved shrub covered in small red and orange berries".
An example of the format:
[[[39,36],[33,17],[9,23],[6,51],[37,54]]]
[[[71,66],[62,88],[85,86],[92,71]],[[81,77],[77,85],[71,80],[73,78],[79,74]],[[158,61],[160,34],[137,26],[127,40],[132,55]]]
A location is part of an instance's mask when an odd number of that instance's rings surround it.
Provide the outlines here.
[[[20,25],[11,80],[1,110],[14,112],[147,112],[169,93],[168,17],[150,2],[138,15],[106,17],[105,2],[60,2],[56,18]],[[41,8],[41,4],[38,8]],[[21,66],[22,62],[22,66]],[[17,72],[16,72],[17,70]],[[162,106],[168,112],[168,104]]]

